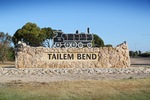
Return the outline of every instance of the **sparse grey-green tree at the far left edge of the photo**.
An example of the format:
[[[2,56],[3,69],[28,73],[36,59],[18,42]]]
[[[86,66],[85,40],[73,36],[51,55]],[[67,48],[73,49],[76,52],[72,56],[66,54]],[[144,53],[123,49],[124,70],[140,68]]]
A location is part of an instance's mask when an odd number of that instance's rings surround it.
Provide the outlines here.
[[[11,36],[8,33],[0,32],[0,60],[7,61],[8,48],[11,44]]]

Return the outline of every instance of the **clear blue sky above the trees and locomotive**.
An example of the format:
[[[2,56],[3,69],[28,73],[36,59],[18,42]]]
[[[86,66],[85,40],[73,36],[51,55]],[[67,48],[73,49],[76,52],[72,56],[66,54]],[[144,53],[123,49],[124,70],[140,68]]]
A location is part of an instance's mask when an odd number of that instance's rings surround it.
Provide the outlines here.
[[[150,51],[150,0],[0,0],[0,32],[13,36],[27,22],[64,33],[89,27],[105,44]]]

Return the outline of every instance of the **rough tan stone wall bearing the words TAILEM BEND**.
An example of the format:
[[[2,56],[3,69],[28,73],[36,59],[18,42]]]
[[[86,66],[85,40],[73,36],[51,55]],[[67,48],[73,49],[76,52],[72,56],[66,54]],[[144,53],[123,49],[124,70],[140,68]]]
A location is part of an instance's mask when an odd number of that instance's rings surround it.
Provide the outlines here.
[[[20,44],[16,68],[127,68],[130,67],[126,43],[100,48],[44,48]],[[50,60],[48,54],[96,54],[95,60]]]

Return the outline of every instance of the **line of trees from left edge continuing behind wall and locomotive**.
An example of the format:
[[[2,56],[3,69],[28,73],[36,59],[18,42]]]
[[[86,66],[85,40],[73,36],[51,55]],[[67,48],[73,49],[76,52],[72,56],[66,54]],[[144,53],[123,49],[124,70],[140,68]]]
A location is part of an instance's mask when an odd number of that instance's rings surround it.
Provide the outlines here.
[[[25,42],[27,45],[34,47],[51,47],[55,31],[57,30],[51,27],[40,28],[35,23],[28,22],[22,28],[19,28],[13,36],[0,32],[0,61],[15,60],[15,48],[18,41]],[[104,45],[104,41],[97,34],[93,34],[93,36],[95,47],[112,46]],[[11,45],[12,43],[14,46]]]

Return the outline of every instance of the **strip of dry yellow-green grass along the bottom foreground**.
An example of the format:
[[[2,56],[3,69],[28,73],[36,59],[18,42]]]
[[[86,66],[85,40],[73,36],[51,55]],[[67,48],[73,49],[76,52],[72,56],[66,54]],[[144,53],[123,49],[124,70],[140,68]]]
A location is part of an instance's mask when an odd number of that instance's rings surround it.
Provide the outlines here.
[[[150,78],[0,83],[0,100],[150,100]]]

